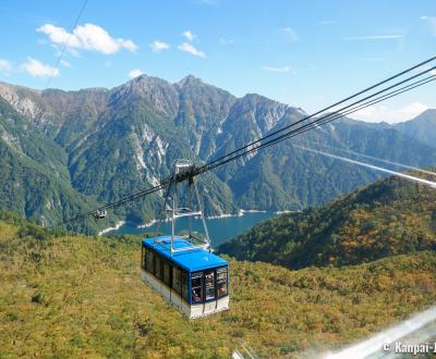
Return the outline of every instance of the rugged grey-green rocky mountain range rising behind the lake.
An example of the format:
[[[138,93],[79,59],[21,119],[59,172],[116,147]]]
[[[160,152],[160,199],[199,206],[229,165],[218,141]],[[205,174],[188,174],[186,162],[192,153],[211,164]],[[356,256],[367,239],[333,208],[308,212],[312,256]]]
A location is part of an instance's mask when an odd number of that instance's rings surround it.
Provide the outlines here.
[[[192,75],[175,84],[142,75],[112,89],[78,91],[0,83],[0,144],[10,157],[37,161],[43,172],[62,178],[63,187],[99,202],[156,185],[175,159],[206,162],[304,116],[301,109],[255,94],[237,98]],[[410,165],[436,164],[435,127],[435,111],[397,126],[340,120],[202,176],[206,209],[210,214],[238,208],[300,209],[377,177],[374,171],[302,152],[292,144],[339,147]],[[29,143],[38,150],[29,150]],[[0,159],[0,169],[5,165]],[[11,178],[3,182],[13,185]],[[149,220],[157,200],[147,197],[118,214]],[[8,203],[0,199],[0,207],[10,209]],[[53,205],[20,211],[38,218],[43,208],[50,222]]]

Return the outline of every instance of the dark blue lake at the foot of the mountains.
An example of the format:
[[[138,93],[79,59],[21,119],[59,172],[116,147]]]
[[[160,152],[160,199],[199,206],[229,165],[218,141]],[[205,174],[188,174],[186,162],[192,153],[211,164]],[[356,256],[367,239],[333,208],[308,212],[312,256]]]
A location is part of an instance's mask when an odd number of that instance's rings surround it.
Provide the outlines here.
[[[209,230],[209,237],[213,247],[217,247],[221,243],[229,240],[238,236],[239,234],[247,231],[250,227],[256,225],[262,221],[266,221],[272,216],[277,215],[275,212],[244,212],[241,216],[226,216],[218,219],[208,219],[207,228]],[[181,218],[175,221],[177,227],[175,232],[187,230],[187,218]],[[202,221],[199,219],[193,219],[192,222],[193,231],[203,232]],[[133,224],[124,224],[117,231],[111,231],[109,234],[122,235],[122,234],[144,234],[154,233],[156,231],[156,224],[149,227],[138,228]],[[160,233],[170,234],[171,223],[164,222],[160,225]]]

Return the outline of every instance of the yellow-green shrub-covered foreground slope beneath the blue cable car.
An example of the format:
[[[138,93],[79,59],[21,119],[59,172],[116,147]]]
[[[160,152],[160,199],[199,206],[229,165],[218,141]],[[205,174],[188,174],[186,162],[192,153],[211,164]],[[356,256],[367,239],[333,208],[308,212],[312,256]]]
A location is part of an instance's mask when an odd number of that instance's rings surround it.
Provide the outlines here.
[[[230,262],[231,310],[189,321],[138,276],[140,238],[52,233],[0,214],[0,358],[296,357],[436,300],[436,253],[290,271]]]

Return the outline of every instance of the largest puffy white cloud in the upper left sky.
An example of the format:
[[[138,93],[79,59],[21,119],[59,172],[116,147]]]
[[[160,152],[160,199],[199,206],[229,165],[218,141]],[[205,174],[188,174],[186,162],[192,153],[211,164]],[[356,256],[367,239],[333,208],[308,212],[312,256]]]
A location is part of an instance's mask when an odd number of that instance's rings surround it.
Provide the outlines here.
[[[114,53],[121,49],[135,51],[137,46],[132,40],[113,38],[100,26],[94,24],[78,25],[73,33],[63,27],[45,24],[36,29],[46,34],[53,45],[68,46],[71,50],[97,51],[105,54]]]

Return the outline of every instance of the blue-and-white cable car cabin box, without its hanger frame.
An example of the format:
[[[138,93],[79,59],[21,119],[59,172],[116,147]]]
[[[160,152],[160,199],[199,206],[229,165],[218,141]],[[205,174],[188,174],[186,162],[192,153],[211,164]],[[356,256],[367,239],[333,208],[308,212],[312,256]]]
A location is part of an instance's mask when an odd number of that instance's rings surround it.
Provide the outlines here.
[[[171,236],[143,240],[141,277],[189,318],[229,309],[229,263],[204,248]],[[187,249],[190,247],[192,249]],[[183,250],[183,248],[186,248]]]

